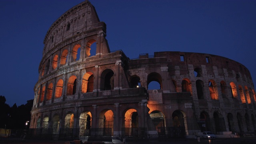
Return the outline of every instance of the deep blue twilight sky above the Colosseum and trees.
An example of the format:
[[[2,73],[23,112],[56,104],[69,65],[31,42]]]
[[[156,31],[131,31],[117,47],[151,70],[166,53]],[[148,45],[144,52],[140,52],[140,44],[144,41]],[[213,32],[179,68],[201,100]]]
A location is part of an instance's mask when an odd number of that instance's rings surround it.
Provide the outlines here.
[[[84,0],[0,0],[0,95],[12,106],[34,98],[44,36]],[[256,84],[256,0],[90,0],[107,24],[110,50],[129,58],[160,51],[224,56]]]

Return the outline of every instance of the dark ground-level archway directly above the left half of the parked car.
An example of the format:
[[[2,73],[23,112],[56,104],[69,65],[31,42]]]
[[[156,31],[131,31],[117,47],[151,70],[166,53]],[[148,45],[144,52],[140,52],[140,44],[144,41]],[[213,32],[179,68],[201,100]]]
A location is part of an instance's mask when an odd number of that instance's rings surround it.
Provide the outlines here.
[[[201,132],[211,131],[211,123],[210,118],[207,112],[201,112],[200,114],[200,122],[199,127]]]

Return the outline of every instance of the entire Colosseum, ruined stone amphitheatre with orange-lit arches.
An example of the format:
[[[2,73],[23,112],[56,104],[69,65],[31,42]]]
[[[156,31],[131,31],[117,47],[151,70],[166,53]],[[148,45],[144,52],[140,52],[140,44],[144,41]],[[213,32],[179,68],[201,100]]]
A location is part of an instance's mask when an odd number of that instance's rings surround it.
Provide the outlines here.
[[[154,52],[128,58],[110,51],[106,24],[84,1],[44,38],[31,111],[32,137],[217,138],[256,132],[249,70],[212,54]],[[150,89],[150,84],[157,84]]]

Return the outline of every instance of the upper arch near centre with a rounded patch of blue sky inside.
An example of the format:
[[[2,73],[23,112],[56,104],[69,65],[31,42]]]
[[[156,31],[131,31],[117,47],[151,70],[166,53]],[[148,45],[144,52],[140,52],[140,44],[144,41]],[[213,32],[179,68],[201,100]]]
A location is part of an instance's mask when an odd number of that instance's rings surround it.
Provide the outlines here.
[[[147,78],[148,90],[160,90],[162,89],[162,77],[156,72],[152,72]]]

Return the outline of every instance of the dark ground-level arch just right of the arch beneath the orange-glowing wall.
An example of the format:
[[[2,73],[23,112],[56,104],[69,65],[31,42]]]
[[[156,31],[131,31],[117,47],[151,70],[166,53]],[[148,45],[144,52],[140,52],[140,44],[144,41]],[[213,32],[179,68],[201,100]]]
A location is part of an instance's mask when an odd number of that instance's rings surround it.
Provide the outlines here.
[[[171,127],[171,135],[174,137],[184,138],[186,136],[186,116],[180,110],[172,113],[173,127]]]

